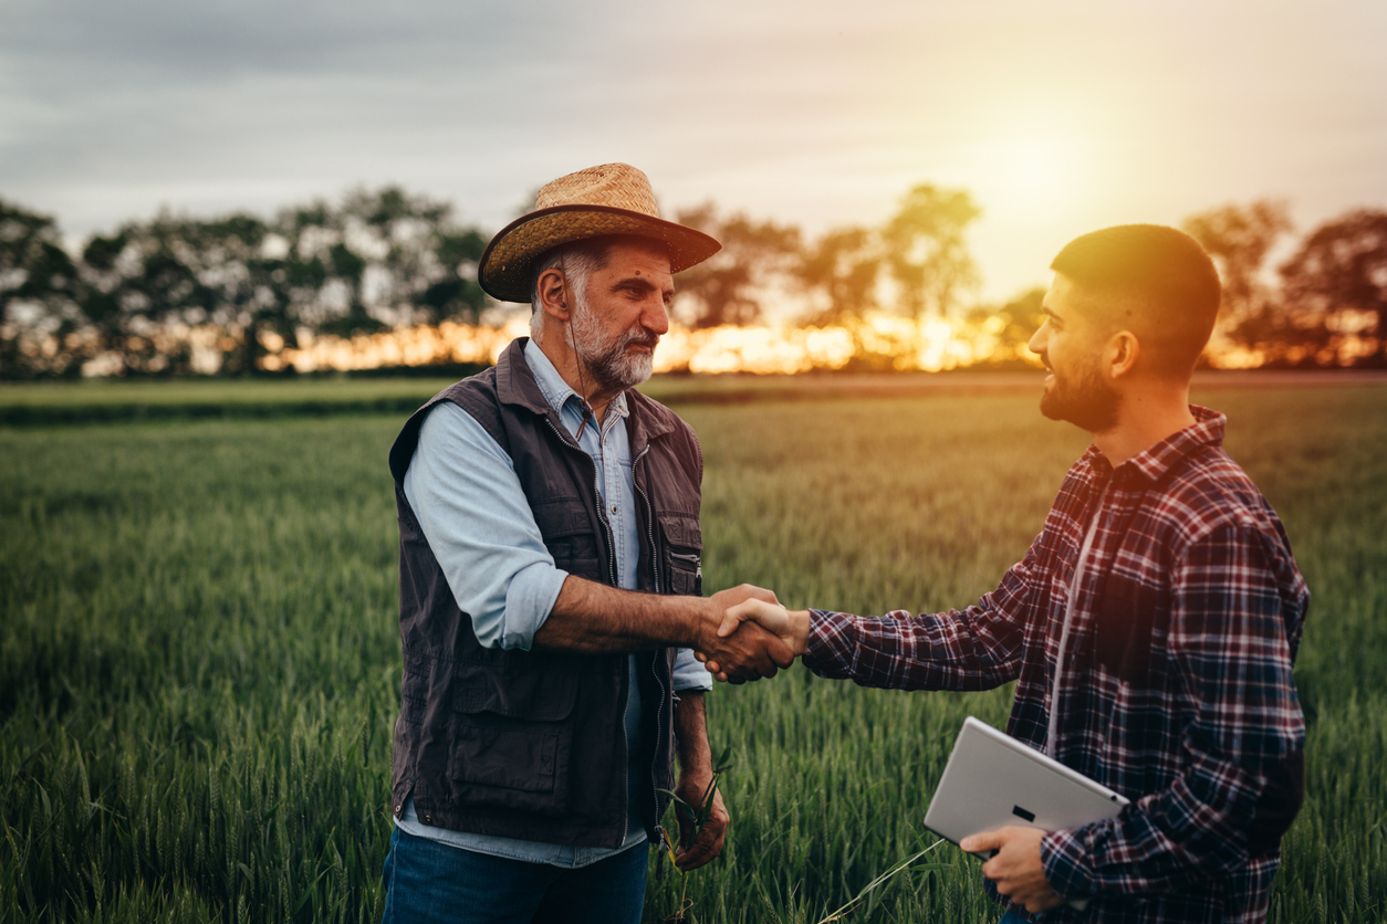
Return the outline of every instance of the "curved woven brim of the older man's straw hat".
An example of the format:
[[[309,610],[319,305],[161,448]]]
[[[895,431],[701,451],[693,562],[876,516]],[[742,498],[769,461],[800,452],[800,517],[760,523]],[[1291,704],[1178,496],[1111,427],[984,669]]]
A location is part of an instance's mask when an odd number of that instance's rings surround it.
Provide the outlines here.
[[[531,266],[560,244],[591,237],[631,234],[664,244],[670,273],[702,263],[723,249],[717,240],[691,227],[606,205],[555,205],[517,217],[491,238],[477,262],[477,283],[502,302],[528,302]]]

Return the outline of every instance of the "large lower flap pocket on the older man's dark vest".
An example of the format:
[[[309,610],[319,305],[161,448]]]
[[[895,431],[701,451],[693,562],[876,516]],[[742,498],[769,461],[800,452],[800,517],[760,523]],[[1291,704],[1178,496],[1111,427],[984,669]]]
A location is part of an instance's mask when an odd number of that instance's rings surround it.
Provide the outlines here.
[[[448,777],[454,799],[566,813],[577,690],[571,673],[465,669],[452,691]]]

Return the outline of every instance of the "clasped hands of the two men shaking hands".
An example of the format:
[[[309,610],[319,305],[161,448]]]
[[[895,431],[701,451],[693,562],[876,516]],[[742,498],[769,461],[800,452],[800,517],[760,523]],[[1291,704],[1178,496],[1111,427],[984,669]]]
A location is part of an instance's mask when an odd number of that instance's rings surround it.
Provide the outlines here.
[[[695,657],[718,680],[774,677],[809,646],[809,611],[788,611],[764,587],[741,585],[709,597]]]

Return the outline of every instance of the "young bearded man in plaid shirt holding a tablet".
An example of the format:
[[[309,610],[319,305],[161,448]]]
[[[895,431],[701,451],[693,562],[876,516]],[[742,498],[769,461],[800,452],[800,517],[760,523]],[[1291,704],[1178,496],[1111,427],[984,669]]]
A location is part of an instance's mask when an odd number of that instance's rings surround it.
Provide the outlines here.
[[[1040,410],[1093,434],[1040,536],[967,610],[757,621],[825,677],[906,690],[1018,680],[1008,733],[1132,799],[1114,820],[964,841],[1008,920],[1261,921],[1302,798],[1291,664],[1308,593],[1282,524],[1189,405],[1219,281],[1168,227],[1086,234],[1054,259],[1031,341]],[[718,673],[728,666],[699,654]],[[1067,903],[1087,898],[1086,910]]]

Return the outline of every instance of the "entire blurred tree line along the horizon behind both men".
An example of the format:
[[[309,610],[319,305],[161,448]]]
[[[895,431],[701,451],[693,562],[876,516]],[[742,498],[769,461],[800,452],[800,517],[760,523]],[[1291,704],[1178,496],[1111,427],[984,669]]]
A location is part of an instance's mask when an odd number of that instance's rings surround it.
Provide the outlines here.
[[[981,213],[968,191],[932,184],[878,226],[816,238],[712,202],[680,211],[723,251],[680,274],[675,317],[745,326],[773,302],[817,327],[878,312],[968,317],[997,335],[999,357],[1022,355],[1043,290],[978,303],[965,234]],[[1183,226],[1218,263],[1226,345],[1280,367],[1387,366],[1387,212],[1326,222],[1276,267],[1291,234],[1282,202],[1225,205]],[[386,187],[268,219],[161,212],[69,249],[55,219],[0,199],[0,378],[254,374],[311,337],[495,323],[505,309],[476,281],[488,238],[449,204]]]

